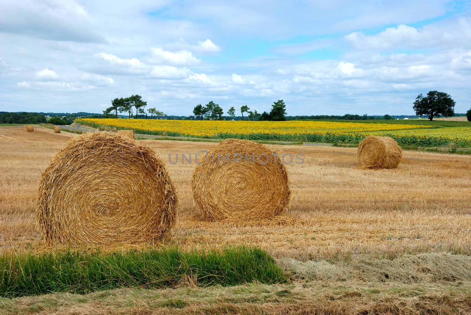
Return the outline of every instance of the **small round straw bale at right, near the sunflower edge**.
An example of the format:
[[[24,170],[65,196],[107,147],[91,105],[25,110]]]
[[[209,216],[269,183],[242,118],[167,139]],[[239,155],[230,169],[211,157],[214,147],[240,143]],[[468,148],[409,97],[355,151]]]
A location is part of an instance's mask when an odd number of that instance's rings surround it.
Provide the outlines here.
[[[357,159],[361,169],[395,169],[402,149],[390,137],[368,136],[358,145]]]

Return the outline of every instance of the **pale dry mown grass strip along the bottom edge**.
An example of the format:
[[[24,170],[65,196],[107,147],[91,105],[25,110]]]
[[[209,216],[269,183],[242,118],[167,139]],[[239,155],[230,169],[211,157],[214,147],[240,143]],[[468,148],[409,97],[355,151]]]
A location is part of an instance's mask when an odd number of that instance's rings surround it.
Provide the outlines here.
[[[0,298],[0,314],[471,314],[469,256],[427,253],[393,260],[363,256],[336,263],[278,262],[291,282]]]

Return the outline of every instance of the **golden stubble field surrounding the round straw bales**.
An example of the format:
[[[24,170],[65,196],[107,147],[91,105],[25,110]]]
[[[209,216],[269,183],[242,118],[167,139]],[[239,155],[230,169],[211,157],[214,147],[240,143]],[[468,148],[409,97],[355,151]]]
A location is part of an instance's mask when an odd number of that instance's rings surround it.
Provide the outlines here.
[[[0,244],[41,245],[35,227],[36,189],[50,158],[73,137],[38,127],[0,128]],[[357,169],[356,148],[268,145],[278,153],[304,154],[287,165],[289,209],[266,222],[208,222],[191,193],[195,153],[212,143],[142,141],[166,163],[179,194],[179,218],[165,244],[180,249],[244,243],[277,258],[396,257],[451,251],[471,254],[471,159],[406,151],[398,169]],[[181,163],[191,153],[192,163]],[[177,164],[172,162],[178,154]],[[20,246],[20,247],[21,247]]]

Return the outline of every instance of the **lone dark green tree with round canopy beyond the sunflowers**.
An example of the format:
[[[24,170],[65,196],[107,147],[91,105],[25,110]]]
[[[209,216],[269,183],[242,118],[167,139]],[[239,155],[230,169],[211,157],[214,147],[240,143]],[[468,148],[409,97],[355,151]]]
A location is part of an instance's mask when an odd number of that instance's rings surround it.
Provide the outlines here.
[[[427,115],[430,121],[433,117],[451,117],[455,114],[455,101],[445,92],[430,91],[426,97],[419,94],[415,98],[414,111],[416,115]]]

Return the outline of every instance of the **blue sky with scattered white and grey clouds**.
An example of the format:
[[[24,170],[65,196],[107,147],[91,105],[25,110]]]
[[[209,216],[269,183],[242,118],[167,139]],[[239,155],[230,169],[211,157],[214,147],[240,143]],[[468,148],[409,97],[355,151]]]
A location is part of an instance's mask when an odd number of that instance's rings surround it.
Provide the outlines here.
[[[470,1],[0,0],[0,111],[190,115],[213,100],[289,115],[471,108]]]

